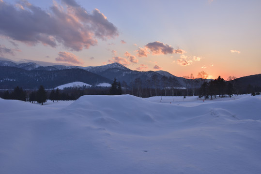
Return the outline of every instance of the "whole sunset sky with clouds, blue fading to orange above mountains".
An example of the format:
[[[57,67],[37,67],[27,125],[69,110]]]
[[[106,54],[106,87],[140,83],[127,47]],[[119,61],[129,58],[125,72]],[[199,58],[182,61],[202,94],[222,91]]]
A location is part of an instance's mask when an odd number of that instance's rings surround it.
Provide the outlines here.
[[[0,0],[0,60],[261,73],[260,0]]]

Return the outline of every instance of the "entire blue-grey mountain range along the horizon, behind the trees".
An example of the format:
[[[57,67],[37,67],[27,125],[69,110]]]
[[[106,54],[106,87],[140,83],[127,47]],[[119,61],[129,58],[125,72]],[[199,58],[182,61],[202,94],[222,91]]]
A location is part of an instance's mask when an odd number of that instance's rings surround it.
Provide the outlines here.
[[[12,89],[16,86],[26,89],[35,89],[40,85],[46,88],[54,88],[75,81],[84,82],[92,86],[100,83],[112,83],[116,78],[127,87],[132,86],[139,78],[145,86],[153,86],[152,78],[156,76],[158,87],[163,87],[161,79],[171,82],[172,87],[186,87],[183,77],[177,77],[165,71],[133,71],[120,63],[111,63],[103,66],[41,66],[34,62],[15,63],[0,60],[0,89]],[[261,86],[261,74],[253,75],[247,83],[253,86]],[[195,79],[198,80],[198,79]],[[244,84],[244,77],[236,79],[238,83]],[[196,87],[200,87],[198,83]]]

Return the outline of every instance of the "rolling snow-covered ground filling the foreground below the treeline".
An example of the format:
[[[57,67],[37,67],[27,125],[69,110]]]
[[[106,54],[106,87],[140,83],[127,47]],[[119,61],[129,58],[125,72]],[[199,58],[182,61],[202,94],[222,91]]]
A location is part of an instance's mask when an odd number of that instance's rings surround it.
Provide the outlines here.
[[[261,96],[178,98],[0,99],[0,174],[260,174]]]

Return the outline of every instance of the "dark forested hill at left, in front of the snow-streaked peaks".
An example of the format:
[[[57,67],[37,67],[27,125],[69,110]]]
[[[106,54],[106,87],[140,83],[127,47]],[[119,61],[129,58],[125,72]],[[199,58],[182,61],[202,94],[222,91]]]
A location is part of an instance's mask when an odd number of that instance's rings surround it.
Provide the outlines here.
[[[57,71],[27,71],[21,68],[0,66],[0,89],[12,89],[16,86],[25,89],[37,89],[44,85],[51,89],[63,84],[80,81],[90,85],[112,83],[112,80],[83,69],[67,69]]]

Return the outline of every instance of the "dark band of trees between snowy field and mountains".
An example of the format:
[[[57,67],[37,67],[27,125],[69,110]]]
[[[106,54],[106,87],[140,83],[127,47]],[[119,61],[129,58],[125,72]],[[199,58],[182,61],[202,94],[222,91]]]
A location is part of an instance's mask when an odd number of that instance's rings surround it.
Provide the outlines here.
[[[203,76],[202,76],[203,77]],[[213,99],[218,97],[231,97],[239,94],[259,94],[260,86],[251,86],[238,84],[235,77],[225,81],[220,76],[215,80],[200,78],[195,80],[193,74],[184,78],[185,87],[176,87],[177,81],[173,77],[163,76],[159,78],[153,75],[151,79],[141,80],[136,78],[129,84],[126,82],[117,82],[114,79],[111,87],[66,87],[64,89],[46,90],[40,86],[38,90],[23,90],[21,87],[15,87],[14,90],[0,91],[0,97],[3,99],[13,99],[29,102],[43,103],[46,100],[53,102],[77,100],[83,95],[120,95],[130,94],[138,97],[153,96],[199,96],[204,99]],[[200,85],[201,84],[201,85]],[[200,87],[199,87],[200,86]]]

